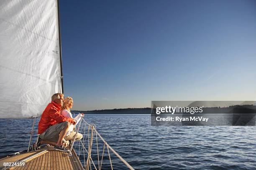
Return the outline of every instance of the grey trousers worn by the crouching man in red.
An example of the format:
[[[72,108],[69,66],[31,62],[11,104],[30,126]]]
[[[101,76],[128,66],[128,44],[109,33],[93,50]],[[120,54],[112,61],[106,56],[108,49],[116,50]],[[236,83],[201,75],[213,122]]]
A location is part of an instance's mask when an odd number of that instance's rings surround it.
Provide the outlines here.
[[[65,121],[65,122],[61,122],[61,123],[52,125],[48,129],[46,129],[44,131],[44,133],[41,133],[39,135],[39,138],[41,138],[41,140],[47,140],[47,141],[57,143],[59,140],[59,133],[61,132],[61,130],[63,130],[65,128],[65,126],[67,126],[67,124],[68,124],[68,122]],[[65,142],[65,140],[64,140],[64,142]]]

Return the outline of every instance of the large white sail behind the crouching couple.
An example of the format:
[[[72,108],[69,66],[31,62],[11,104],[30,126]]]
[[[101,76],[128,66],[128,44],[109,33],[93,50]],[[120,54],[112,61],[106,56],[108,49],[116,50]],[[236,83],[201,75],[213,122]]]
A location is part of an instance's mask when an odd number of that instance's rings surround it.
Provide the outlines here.
[[[0,1],[0,117],[41,115],[61,92],[57,0]]]

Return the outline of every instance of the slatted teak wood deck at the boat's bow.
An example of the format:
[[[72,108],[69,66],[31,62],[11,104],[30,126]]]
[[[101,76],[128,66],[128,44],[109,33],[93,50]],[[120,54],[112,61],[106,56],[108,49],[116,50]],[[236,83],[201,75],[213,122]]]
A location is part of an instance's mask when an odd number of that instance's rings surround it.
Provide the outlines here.
[[[69,152],[47,150],[26,160],[24,166],[15,166],[10,170],[83,170],[84,168],[74,150],[72,150],[72,155],[69,156]],[[8,161],[7,159],[5,161]]]

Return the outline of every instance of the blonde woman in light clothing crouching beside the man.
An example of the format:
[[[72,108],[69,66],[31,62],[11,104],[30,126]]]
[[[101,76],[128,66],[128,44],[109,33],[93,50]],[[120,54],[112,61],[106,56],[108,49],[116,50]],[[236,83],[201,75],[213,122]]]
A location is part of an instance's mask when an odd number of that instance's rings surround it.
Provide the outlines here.
[[[70,112],[70,109],[73,107],[73,105],[74,104],[73,104],[72,97],[66,97],[64,99],[63,105],[61,107],[61,115],[65,116],[65,117],[73,118],[72,114]],[[84,114],[82,113],[81,115],[84,115]],[[81,115],[79,115],[77,117],[81,117]],[[75,117],[74,119],[76,120],[77,117]],[[76,120],[76,121],[78,123],[79,120]],[[74,140],[76,132],[73,131],[73,128],[74,128],[73,126],[69,127],[69,130],[67,131],[67,133],[66,133],[66,135],[64,137],[65,140]],[[77,133],[77,137],[76,137],[75,140],[80,140],[82,138],[83,138],[83,135],[81,133]]]

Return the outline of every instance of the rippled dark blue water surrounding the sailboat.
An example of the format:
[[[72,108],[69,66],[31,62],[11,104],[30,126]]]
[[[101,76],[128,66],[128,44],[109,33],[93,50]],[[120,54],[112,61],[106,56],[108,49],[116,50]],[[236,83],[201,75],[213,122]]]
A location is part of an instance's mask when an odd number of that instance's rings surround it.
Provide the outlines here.
[[[86,115],[85,119],[95,123],[108,144],[135,169],[256,169],[254,126],[154,127],[150,115]],[[32,122],[0,119],[0,156],[27,149]],[[114,157],[113,167],[124,169]]]

